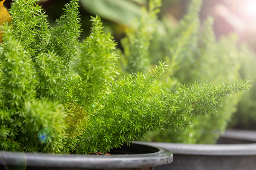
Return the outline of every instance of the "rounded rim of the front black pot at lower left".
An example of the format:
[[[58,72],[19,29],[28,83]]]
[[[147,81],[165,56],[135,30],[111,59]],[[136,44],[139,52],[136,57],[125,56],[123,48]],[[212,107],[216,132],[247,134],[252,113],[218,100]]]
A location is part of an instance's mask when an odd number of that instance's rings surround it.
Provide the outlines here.
[[[137,143],[134,143],[137,144]],[[143,145],[145,144],[137,144]],[[146,147],[155,147],[146,145]],[[155,147],[158,152],[143,154],[120,155],[80,155],[80,154],[47,154],[47,153],[18,153],[0,151],[0,158],[9,166],[55,167],[55,168],[142,168],[169,164],[173,161],[173,153]]]

